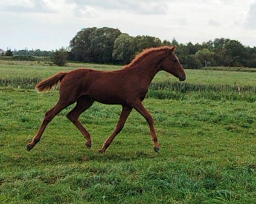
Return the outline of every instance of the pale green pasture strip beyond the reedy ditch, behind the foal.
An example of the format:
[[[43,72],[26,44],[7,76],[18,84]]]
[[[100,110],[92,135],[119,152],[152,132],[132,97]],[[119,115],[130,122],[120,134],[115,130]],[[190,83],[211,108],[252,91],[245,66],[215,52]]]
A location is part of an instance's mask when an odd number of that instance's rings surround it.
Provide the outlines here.
[[[68,63],[66,67],[50,66],[49,62],[15,62],[0,61],[0,79],[9,78],[38,78],[44,79],[58,71],[70,71],[77,68],[91,68],[96,70],[112,71],[122,68],[118,65],[98,65],[88,63]],[[240,68],[241,69],[241,68]],[[253,69],[253,68],[251,68]],[[245,68],[245,71],[247,69]],[[256,69],[255,69],[256,70]],[[215,70],[186,70],[186,83],[206,85],[235,85],[255,86],[256,73],[241,71],[215,71]],[[177,79],[166,72],[159,72],[154,82],[176,82]]]

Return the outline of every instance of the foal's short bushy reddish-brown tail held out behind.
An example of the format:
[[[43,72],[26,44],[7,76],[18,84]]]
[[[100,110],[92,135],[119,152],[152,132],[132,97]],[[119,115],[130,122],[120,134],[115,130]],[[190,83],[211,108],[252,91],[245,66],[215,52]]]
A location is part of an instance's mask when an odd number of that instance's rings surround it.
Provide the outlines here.
[[[35,85],[35,90],[38,93],[44,92],[44,91],[49,91],[52,88],[52,86],[57,85],[58,82],[61,81],[61,79],[63,77],[65,77],[66,74],[67,74],[67,72],[59,72],[58,74],[55,74],[51,77],[44,79],[43,81],[41,81]]]

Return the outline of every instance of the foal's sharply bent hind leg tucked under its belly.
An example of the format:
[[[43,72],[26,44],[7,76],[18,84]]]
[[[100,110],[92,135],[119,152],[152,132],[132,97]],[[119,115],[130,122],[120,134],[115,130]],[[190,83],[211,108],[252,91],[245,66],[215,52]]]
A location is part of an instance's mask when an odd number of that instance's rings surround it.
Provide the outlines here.
[[[84,138],[86,139],[85,146],[90,149],[92,143],[90,139],[90,133],[83,127],[79,122],[78,118],[87,108],[93,105],[93,100],[89,99],[87,96],[81,96],[76,101],[76,106],[69,113],[67,113],[67,118],[73,122],[73,124],[80,130]]]

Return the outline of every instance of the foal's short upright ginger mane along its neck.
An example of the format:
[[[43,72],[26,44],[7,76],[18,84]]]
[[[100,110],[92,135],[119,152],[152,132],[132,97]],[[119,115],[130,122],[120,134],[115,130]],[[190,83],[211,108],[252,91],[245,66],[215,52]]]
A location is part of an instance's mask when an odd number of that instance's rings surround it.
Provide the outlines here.
[[[158,51],[173,51],[174,47],[170,47],[170,46],[162,46],[162,47],[158,47],[158,48],[146,48],[144,49],[141,53],[137,54],[134,59],[128,64],[125,65],[123,68],[127,69],[127,68],[131,68],[132,66],[136,65],[138,62],[140,62],[140,60],[146,56],[148,56],[149,54],[153,53],[153,52],[158,52]]]

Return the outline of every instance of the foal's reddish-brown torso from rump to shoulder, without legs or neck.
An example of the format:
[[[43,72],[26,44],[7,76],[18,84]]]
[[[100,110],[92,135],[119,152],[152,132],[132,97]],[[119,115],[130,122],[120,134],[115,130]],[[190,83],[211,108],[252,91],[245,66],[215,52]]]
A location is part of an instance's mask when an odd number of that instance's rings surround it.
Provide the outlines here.
[[[87,95],[92,100],[105,104],[127,104],[137,97],[138,86],[141,83],[134,79],[130,72],[128,70],[76,69],[62,79],[60,93],[71,94],[77,99]],[[146,91],[147,89],[143,92],[146,94]]]

